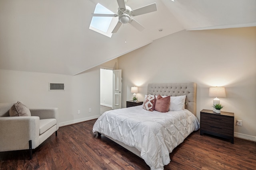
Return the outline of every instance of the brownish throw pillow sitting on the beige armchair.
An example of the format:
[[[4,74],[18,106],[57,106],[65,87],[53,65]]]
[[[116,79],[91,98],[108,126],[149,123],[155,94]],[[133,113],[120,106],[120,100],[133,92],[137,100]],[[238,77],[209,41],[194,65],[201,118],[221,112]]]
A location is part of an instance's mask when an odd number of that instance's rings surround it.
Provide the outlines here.
[[[9,110],[10,116],[31,116],[30,110],[21,102],[15,103]]]

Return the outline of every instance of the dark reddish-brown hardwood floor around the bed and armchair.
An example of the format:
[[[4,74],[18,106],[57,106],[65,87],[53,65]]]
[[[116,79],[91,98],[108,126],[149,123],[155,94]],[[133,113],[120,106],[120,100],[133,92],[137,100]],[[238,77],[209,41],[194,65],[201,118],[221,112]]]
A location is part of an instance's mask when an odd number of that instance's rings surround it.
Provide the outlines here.
[[[104,136],[92,133],[94,120],[60,127],[33,151],[0,152],[0,170],[149,170],[144,160]],[[170,153],[165,170],[255,170],[256,144],[196,131]]]

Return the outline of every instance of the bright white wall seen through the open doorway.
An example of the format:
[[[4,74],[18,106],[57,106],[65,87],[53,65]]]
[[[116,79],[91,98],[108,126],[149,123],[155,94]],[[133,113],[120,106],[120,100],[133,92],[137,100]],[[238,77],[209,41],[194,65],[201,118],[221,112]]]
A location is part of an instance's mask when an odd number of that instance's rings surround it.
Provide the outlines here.
[[[100,104],[112,107],[113,104],[113,70],[100,69]]]

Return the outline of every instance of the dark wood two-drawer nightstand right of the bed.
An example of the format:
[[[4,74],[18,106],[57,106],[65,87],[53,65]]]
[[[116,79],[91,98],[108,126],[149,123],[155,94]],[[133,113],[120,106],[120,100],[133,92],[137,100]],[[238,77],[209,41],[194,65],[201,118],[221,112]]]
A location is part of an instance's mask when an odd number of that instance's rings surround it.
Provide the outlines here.
[[[234,113],[212,110],[200,111],[200,135],[208,133],[218,137],[230,139],[234,143]]]

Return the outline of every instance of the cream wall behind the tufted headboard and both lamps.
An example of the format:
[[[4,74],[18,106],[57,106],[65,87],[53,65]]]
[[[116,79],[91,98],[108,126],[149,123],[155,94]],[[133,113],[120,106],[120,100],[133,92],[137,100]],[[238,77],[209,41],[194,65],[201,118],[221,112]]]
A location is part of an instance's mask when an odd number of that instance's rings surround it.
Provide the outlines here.
[[[212,109],[210,86],[226,87],[220,98],[224,109],[234,112],[239,135],[256,137],[256,27],[205,31],[180,31],[118,58],[123,74],[122,106],[138,86],[143,101],[148,83],[196,82],[197,117]]]

